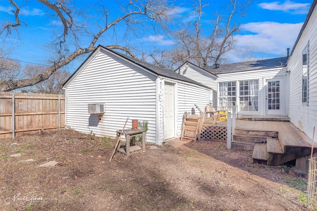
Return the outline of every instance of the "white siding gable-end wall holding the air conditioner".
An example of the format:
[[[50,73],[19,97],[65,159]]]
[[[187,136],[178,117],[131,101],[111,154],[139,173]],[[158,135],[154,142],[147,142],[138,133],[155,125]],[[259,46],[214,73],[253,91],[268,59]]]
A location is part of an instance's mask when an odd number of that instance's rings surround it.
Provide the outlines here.
[[[127,117],[126,128],[132,127],[132,119],[147,120],[147,141],[156,143],[156,80],[156,76],[101,50],[66,87],[66,127],[115,137]],[[89,103],[105,104],[102,121],[98,115],[88,114]]]

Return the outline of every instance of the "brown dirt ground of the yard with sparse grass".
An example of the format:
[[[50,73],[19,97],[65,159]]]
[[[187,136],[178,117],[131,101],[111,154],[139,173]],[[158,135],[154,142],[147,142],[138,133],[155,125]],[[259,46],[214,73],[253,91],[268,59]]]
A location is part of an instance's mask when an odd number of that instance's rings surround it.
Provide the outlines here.
[[[70,129],[0,139],[0,211],[317,208],[306,207],[307,174],[252,164],[251,152],[226,150],[223,142],[147,144],[146,152],[116,153],[109,162],[114,146]],[[39,167],[50,161],[58,164]]]

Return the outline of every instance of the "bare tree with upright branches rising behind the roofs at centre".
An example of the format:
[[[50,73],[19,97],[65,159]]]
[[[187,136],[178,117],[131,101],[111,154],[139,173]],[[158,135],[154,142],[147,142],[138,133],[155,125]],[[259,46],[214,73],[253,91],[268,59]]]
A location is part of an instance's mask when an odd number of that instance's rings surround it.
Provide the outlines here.
[[[245,10],[250,3],[251,0],[243,3],[229,0],[223,12],[216,12],[215,19],[206,25],[202,21],[202,16],[204,7],[208,5],[202,0],[196,0],[196,20],[179,31],[171,32],[176,44],[174,50],[167,52],[163,57],[172,64],[171,68],[178,67],[186,61],[200,67],[204,64],[222,63],[225,53],[233,49],[233,33],[240,27],[238,18],[245,16]],[[209,29],[209,33],[206,29]]]

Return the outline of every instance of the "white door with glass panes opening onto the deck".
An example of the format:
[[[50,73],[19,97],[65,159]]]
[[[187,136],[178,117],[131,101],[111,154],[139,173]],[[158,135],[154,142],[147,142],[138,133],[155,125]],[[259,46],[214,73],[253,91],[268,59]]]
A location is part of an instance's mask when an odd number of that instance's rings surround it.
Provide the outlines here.
[[[266,115],[283,115],[284,100],[281,79],[266,80]]]

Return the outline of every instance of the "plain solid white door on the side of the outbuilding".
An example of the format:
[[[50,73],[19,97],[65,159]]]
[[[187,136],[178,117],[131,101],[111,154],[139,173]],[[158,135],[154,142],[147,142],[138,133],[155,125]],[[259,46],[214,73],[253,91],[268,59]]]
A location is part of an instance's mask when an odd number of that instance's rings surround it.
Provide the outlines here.
[[[164,84],[164,139],[175,137],[174,84]]]

